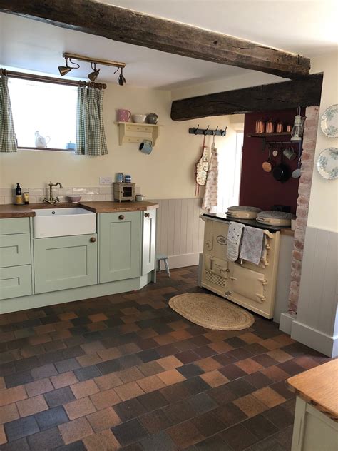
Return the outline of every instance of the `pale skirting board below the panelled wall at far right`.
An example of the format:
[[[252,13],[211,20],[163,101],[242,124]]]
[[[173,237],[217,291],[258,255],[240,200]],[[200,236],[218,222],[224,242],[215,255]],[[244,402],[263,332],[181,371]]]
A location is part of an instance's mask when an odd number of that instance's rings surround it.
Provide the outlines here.
[[[329,336],[320,330],[299,323],[297,320],[292,323],[291,338],[328,357],[334,358],[338,356],[338,336]]]

